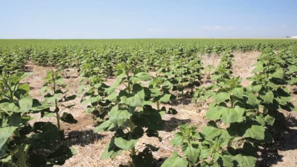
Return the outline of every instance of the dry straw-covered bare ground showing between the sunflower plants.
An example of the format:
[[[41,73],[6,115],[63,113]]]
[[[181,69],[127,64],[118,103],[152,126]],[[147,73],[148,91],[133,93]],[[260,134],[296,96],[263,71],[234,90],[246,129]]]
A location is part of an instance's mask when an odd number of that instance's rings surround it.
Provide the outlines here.
[[[259,52],[240,53],[234,52],[234,75],[238,75],[243,80],[243,85],[248,85],[249,81],[247,77],[252,76],[251,64],[256,62]],[[214,66],[219,63],[219,57],[203,56],[202,62],[204,65],[212,64]],[[27,71],[31,71],[34,74],[25,79],[24,82],[28,82],[31,86],[30,93],[34,98],[43,100],[43,95],[39,94],[39,89],[42,88],[43,78],[46,71],[52,67],[42,67],[28,63],[26,65]],[[69,94],[76,94],[79,87],[79,76],[76,71],[72,69],[65,70],[64,83],[68,84]],[[111,84],[115,81],[115,78],[107,79],[107,84]],[[77,99],[69,102],[70,104],[76,104],[76,106],[67,110],[74,115],[78,120],[75,125],[62,124],[62,128],[65,130],[66,139],[65,143],[77,148],[78,152],[75,156],[66,161],[63,167],[118,167],[119,165],[130,165],[129,156],[127,152],[124,152],[121,156],[116,157],[114,160],[101,159],[101,153],[103,152],[105,145],[109,142],[113,136],[113,132],[103,132],[100,134],[93,133],[92,119],[90,115],[85,114],[85,106],[80,105],[82,95],[78,95]],[[294,95],[293,101],[297,104],[297,96]],[[153,152],[155,159],[154,164],[160,165],[169,157],[173,151],[179,151],[180,149],[174,148],[170,145],[170,140],[174,136],[174,131],[178,129],[178,125],[190,124],[202,127],[206,125],[208,120],[203,118],[205,112],[208,109],[208,103],[206,104],[194,104],[191,103],[191,99],[178,98],[171,104],[165,104],[166,107],[172,107],[178,111],[176,115],[166,114],[165,129],[160,131],[159,136],[163,139],[159,142],[157,138],[143,137],[138,142],[136,148],[144,146],[144,144],[152,144],[160,147],[159,151]],[[269,156],[266,166],[273,167],[296,167],[297,166],[297,113],[286,113],[286,116],[290,118],[290,131],[285,133],[281,141],[277,144],[276,152],[271,153],[273,156]],[[38,116],[36,116],[38,117]],[[35,121],[52,121],[51,118],[41,118]],[[270,155],[270,154],[269,154]],[[262,165],[261,165],[262,166]]]

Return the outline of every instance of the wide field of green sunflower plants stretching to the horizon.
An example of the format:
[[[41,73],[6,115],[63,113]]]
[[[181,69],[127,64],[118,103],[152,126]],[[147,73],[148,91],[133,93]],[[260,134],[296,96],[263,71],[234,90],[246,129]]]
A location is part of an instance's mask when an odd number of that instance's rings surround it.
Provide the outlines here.
[[[250,77],[234,75],[235,52],[259,53]],[[203,63],[211,58],[218,63]],[[42,98],[32,95],[28,64],[51,69]],[[71,90],[69,69],[78,74]],[[0,40],[0,166],[63,166],[74,157],[86,167],[260,166],[259,150],[287,131],[296,86],[297,40]],[[71,113],[75,100],[92,133],[109,135],[96,161],[125,164],[88,165],[78,156],[84,148],[67,142],[63,126],[82,122]],[[179,114],[180,100],[206,105],[207,124],[180,124],[169,132],[170,156],[157,157],[169,136],[165,118]]]

